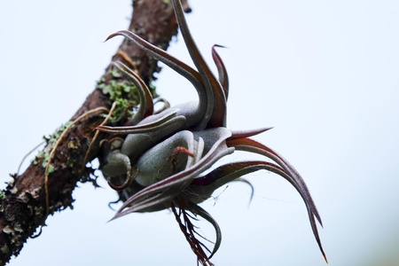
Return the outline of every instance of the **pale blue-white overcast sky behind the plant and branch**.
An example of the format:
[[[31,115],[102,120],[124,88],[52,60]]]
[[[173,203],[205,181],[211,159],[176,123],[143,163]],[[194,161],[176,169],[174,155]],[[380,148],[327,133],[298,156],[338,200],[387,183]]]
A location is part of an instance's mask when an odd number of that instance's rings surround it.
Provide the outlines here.
[[[256,139],[299,170],[325,228],[329,265],[399,264],[399,2],[191,0],[187,20],[209,65],[214,43],[231,77],[230,129],[275,127]],[[93,90],[128,27],[123,1],[0,3],[2,183],[68,121]],[[191,63],[180,36],[170,52]],[[159,93],[195,99],[164,67]],[[244,155],[244,157],[243,157]],[[31,157],[32,158],[32,157]],[[242,160],[235,154],[231,160]],[[258,172],[203,205],[223,231],[216,265],[325,265],[301,197]],[[3,182],[4,181],[4,182]],[[106,223],[116,194],[81,185],[74,210],[47,220],[10,265],[196,265],[168,211]],[[200,223],[209,239],[211,228]]]

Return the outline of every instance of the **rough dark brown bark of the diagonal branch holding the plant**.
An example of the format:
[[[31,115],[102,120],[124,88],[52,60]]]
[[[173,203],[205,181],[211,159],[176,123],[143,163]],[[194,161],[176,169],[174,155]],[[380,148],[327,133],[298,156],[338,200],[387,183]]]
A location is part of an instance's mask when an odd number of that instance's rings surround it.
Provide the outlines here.
[[[188,11],[186,3],[184,6]],[[129,30],[166,50],[170,39],[177,32],[177,23],[171,5],[162,0],[133,1]],[[114,60],[121,60],[128,66],[134,65],[147,84],[153,80],[153,73],[160,70],[156,60],[126,40],[121,43],[119,50],[113,56]],[[105,83],[114,79],[110,69],[111,65],[107,66],[102,76],[101,80]],[[104,120],[100,114],[104,114],[105,108],[109,109],[111,105],[112,100],[103,94],[102,90],[95,88],[81,108],[74,113],[71,121],[75,121],[90,110],[104,107],[101,109],[103,111],[99,110],[98,113],[92,113],[76,121],[74,127],[64,133],[50,161],[53,171],[48,176],[47,185],[43,167],[44,158],[36,158],[35,163],[32,163],[23,174],[13,176],[13,182],[0,195],[1,265],[9,262],[12,255],[20,253],[27,239],[45,224],[48,215],[72,207],[74,201],[72,192],[79,182],[95,182],[93,179],[95,177],[91,174],[92,169],[86,168],[85,164],[99,156],[99,142],[105,136],[100,134],[91,144],[94,137],[93,129]],[[89,147],[90,153],[87,156]],[[43,153],[48,153],[49,150],[51,149],[48,144],[43,148]]]

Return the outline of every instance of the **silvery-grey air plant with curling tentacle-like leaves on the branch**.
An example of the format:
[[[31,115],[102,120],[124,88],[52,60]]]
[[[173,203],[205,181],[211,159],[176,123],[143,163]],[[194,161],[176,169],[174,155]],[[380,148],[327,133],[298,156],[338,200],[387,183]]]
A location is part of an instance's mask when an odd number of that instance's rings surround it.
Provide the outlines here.
[[[133,188],[134,191],[113,219],[136,212],[171,208],[198,261],[212,265],[209,259],[219,248],[222,234],[216,221],[199,204],[209,199],[224,184],[242,181],[241,176],[264,169],[285,178],[301,194],[313,234],[325,257],[317,231],[317,222],[320,225],[322,222],[308,187],[286,159],[250,138],[270,128],[241,131],[227,129],[229,79],[223,60],[215,51],[218,45],[212,47],[212,56],[218,70],[216,78],[194,43],[180,0],[172,0],[171,3],[196,70],[133,32],[121,30],[107,38],[117,35],[128,38],[155,59],[183,75],[197,90],[199,98],[196,102],[154,112],[153,98],[145,82],[128,66],[114,62],[113,66],[136,85],[140,105],[126,126],[97,128],[116,136],[127,135],[124,140],[111,138],[104,145],[106,156],[101,162],[101,169],[113,189],[123,192]],[[212,168],[216,161],[236,151],[257,153],[268,160],[233,161]],[[123,181],[117,184],[116,181],[120,180]],[[197,216],[215,228],[216,240],[212,250],[198,239],[200,234],[192,224],[192,219],[195,220]]]

